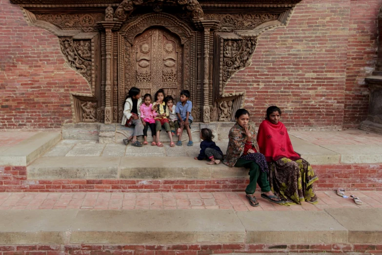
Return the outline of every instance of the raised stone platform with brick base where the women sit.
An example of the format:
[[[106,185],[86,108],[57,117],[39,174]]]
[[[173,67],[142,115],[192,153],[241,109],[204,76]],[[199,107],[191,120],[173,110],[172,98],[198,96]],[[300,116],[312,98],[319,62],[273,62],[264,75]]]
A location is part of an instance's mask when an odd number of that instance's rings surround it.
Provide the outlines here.
[[[62,137],[70,138],[65,132]],[[135,148],[121,140],[100,144],[97,132],[85,136],[93,139],[60,142],[60,133],[33,133],[8,144],[0,151],[0,191],[242,191],[248,182],[247,170],[194,160],[197,141],[193,147],[184,142],[174,148],[169,143]],[[13,135],[1,133],[7,134]],[[354,129],[291,131],[290,136],[294,149],[318,174],[318,190],[382,189],[382,135]],[[226,140],[217,144],[226,151]],[[25,160],[10,161],[12,151]],[[34,157],[30,151],[37,151]]]

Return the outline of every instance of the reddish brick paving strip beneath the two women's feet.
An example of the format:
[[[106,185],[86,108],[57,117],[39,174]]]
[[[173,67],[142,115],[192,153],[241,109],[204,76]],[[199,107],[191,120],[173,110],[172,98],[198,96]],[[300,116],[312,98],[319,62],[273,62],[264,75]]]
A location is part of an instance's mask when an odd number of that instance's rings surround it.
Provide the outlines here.
[[[317,191],[319,204],[275,205],[255,193],[260,206],[251,207],[243,192],[156,192],[156,193],[0,193],[0,210],[21,209],[233,209],[235,211],[320,211],[326,208],[382,208],[382,191],[349,191],[352,198],[342,198],[334,191]]]

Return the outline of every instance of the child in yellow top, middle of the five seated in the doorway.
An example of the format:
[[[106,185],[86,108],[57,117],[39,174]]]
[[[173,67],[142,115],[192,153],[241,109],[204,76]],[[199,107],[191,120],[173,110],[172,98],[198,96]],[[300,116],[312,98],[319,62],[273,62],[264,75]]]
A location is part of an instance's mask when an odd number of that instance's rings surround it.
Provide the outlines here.
[[[168,123],[168,119],[167,119],[167,117],[170,115],[170,112],[169,112],[166,104],[163,101],[164,97],[165,97],[164,90],[159,89],[157,91],[157,93],[155,93],[156,102],[151,107],[158,114],[154,118],[155,119],[155,129],[157,130],[157,146],[163,147],[163,144],[161,143],[161,141],[159,139],[159,134],[160,134],[160,132],[162,130],[162,126],[163,126],[164,129],[166,130],[166,132],[168,133],[168,137],[170,138],[170,147],[174,147],[175,144],[172,141],[171,128],[170,128],[170,124]]]

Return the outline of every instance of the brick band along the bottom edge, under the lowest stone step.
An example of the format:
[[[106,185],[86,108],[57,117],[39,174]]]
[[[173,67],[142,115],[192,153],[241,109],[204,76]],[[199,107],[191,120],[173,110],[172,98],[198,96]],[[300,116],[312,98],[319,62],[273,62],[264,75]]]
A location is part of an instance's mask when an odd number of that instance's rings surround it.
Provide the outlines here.
[[[29,249],[31,247],[31,249]],[[46,249],[41,249],[45,247]],[[52,247],[52,248],[50,248]],[[155,248],[155,249],[154,249]],[[36,249],[39,252],[36,252]],[[0,246],[0,255],[211,255],[227,253],[330,252],[379,254],[375,244],[177,244],[177,245],[35,245]]]

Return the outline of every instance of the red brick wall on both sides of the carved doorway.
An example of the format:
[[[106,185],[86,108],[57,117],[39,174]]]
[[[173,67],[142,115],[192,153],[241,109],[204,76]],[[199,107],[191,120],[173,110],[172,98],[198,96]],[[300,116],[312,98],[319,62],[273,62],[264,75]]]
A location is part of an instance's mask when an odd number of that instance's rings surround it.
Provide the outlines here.
[[[287,27],[261,35],[252,64],[225,92],[245,91],[257,124],[276,104],[291,129],[358,127],[367,115],[364,77],[375,65],[381,5],[302,0]],[[90,89],[64,63],[55,35],[28,26],[17,5],[0,0],[0,130],[72,122],[69,93]]]

